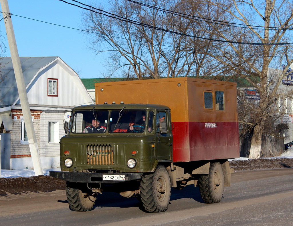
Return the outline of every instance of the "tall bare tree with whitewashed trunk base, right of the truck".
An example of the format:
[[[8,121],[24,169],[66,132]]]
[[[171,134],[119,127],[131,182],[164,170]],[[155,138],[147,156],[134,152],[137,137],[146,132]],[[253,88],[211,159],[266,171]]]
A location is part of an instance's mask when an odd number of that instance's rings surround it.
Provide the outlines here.
[[[222,7],[230,22],[224,29],[219,29],[216,47],[218,54],[214,58],[226,66],[229,74],[244,78],[255,87],[260,95],[259,104],[253,108],[251,120],[253,136],[251,139],[250,158],[258,158],[261,153],[261,138],[266,122],[276,113],[273,105],[282,94],[278,88],[286,76],[286,71],[293,63],[292,37],[293,3],[291,0],[230,0],[228,4],[214,4]],[[250,44],[249,44],[250,43]],[[269,74],[269,67],[280,70],[277,76]]]

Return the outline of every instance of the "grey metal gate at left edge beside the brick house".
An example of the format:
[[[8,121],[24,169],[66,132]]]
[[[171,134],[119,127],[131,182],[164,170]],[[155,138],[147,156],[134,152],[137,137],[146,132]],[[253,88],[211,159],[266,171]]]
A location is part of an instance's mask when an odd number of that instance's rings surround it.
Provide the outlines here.
[[[1,169],[10,170],[10,133],[0,133]]]

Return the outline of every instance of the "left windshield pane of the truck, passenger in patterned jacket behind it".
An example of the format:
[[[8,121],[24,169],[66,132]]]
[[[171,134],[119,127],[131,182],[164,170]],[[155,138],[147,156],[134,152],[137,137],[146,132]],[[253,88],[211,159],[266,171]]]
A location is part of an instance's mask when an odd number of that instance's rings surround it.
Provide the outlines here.
[[[71,122],[72,133],[105,133],[108,111],[76,111]]]

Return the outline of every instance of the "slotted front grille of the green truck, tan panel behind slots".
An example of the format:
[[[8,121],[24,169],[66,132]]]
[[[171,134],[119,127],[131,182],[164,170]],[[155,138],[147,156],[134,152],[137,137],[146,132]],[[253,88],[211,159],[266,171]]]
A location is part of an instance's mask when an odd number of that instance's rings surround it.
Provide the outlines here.
[[[117,145],[88,144],[84,146],[84,164],[87,165],[116,165]]]

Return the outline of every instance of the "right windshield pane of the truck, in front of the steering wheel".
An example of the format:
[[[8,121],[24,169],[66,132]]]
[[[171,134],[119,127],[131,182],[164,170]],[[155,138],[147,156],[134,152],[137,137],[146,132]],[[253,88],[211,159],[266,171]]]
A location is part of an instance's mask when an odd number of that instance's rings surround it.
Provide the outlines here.
[[[146,121],[145,110],[113,110],[110,113],[110,133],[142,133]],[[119,120],[118,120],[119,119]]]

